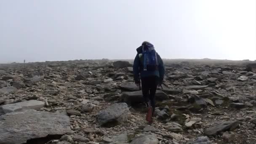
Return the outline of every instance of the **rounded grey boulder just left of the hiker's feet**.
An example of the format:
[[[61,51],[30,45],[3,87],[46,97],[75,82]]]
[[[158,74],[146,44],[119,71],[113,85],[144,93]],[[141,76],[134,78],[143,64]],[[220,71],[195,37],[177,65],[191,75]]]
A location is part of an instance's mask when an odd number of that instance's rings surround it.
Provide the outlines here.
[[[130,114],[131,112],[126,103],[116,103],[99,112],[97,120],[100,125],[121,123],[126,121]]]

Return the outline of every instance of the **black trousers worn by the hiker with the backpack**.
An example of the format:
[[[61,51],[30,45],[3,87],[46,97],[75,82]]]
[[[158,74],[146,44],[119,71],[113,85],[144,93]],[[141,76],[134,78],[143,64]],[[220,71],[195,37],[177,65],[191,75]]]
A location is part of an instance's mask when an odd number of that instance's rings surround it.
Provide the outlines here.
[[[155,111],[155,92],[157,90],[158,81],[159,77],[157,76],[141,78],[141,90],[144,100],[146,103],[150,101],[153,112]]]

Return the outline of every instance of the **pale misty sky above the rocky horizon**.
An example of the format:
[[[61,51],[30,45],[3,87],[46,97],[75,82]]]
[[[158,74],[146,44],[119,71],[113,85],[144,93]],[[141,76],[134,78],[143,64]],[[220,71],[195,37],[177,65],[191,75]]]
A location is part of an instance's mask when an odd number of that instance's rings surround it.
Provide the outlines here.
[[[0,62],[256,59],[256,0],[0,0]]]

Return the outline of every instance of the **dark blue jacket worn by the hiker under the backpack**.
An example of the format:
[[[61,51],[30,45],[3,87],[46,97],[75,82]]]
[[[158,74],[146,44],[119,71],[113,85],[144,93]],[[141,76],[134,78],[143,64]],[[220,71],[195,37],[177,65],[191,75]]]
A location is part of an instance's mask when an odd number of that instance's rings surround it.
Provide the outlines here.
[[[139,83],[139,74],[140,77],[149,77],[149,76],[157,76],[159,77],[160,83],[163,82],[163,76],[165,74],[165,67],[163,64],[163,60],[161,59],[161,57],[157,54],[157,59],[158,59],[158,70],[155,71],[143,71],[143,67],[141,64],[141,61],[139,59],[139,53],[142,53],[142,48],[141,46],[139,48],[136,49],[136,51],[138,52],[134,62],[133,62],[133,74],[134,74],[134,81],[135,83]]]

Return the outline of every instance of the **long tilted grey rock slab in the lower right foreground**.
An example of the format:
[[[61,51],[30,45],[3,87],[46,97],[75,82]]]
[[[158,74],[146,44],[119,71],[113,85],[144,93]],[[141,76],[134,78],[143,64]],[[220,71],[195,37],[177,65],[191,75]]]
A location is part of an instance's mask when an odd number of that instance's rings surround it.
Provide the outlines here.
[[[218,125],[214,125],[213,127],[207,128],[205,130],[205,135],[214,136],[222,131],[232,131],[240,124],[239,121],[234,122],[224,122]]]

